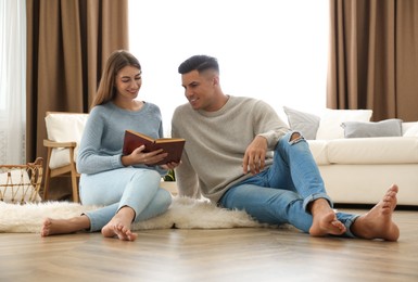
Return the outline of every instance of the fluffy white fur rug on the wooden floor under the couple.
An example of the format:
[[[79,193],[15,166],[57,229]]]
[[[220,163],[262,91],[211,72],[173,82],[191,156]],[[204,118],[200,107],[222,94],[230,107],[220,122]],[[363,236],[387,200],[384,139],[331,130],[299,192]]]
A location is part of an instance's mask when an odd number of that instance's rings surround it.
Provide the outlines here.
[[[68,202],[14,205],[0,202],[0,233],[38,233],[46,217],[71,218],[98,207]],[[174,197],[168,210],[155,218],[135,223],[134,230],[145,229],[220,229],[264,227],[245,211],[216,207],[207,201]]]

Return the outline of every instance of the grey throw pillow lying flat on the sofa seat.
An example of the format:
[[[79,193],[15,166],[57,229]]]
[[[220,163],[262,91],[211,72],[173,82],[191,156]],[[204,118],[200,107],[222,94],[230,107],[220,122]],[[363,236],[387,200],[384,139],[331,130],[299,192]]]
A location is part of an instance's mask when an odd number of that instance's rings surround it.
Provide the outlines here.
[[[378,123],[345,121],[342,123],[341,127],[344,128],[345,138],[402,136],[402,120],[397,118]]]

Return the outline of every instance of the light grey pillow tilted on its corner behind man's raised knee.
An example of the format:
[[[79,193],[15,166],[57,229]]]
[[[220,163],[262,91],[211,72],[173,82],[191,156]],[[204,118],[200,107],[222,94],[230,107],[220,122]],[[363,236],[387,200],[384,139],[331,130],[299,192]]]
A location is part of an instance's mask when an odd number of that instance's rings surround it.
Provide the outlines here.
[[[314,140],[319,127],[320,117],[314,114],[300,112],[288,106],[283,106],[288,116],[289,126],[293,130],[300,131],[306,140]]]

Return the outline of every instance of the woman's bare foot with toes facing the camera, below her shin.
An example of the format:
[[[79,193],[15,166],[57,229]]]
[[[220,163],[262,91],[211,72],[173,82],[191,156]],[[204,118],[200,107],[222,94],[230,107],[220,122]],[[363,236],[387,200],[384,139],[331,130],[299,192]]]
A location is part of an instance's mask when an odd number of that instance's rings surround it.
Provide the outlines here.
[[[130,230],[130,225],[135,217],[135,211],[130,207],[121,208],[117,214],[102,228],[105,238],[117,236],[123,241],[135,241],[137,234]]]

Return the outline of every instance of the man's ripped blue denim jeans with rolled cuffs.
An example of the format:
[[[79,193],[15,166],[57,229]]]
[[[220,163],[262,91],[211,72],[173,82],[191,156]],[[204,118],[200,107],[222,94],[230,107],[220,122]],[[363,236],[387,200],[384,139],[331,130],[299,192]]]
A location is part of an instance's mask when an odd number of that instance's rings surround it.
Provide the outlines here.
[[[230,188],[219,204],[230,209],[244,209],[259,222],[290,223],[308,232],[313,217],[307,205],[326,198],[332,207],[332,201],[306,140],[303,137],[290,140],[294,132],[280,139],[270,167]],[[345,236],[354,236],[350,227],[357,217],[337,213],[337,218],[346,227]]]

